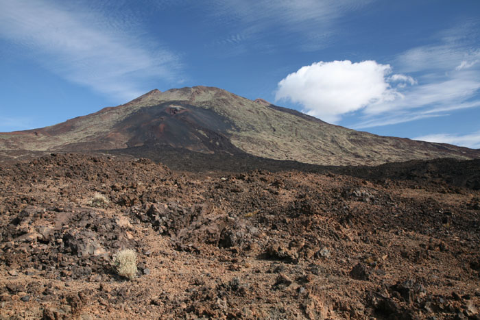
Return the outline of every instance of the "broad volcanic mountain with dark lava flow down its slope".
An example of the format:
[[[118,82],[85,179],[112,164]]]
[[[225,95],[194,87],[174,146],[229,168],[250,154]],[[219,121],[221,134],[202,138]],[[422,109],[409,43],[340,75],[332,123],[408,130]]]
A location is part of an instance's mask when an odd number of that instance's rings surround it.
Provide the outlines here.
[[[117,107],[35,130],[0,134],[0,153],[125,151],[250,155],[321,165],[480,158],[480,150],[376,136],[219,88],[152,90]]]

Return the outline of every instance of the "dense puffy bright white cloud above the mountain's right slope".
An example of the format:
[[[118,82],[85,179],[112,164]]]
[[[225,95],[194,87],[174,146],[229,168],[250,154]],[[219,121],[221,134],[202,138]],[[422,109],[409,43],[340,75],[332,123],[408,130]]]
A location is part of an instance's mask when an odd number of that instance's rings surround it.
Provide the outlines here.
[[[388,79],[401,83],[414,80],[406,75],[388,78],[391,71],[388,64],[375,61],[316,62],[282,79],[275,98],[300,103],[307,114],[335,123],[342,114],[399,99],[400,93]]]

